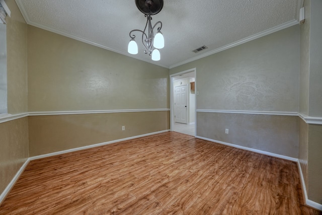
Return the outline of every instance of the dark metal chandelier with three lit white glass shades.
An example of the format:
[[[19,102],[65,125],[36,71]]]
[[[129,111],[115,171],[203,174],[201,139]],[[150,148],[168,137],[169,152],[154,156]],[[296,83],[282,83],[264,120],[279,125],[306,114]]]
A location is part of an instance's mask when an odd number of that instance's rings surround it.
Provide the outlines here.
[[[152,60],[160,60],[159,49],[165,46],[165,39],[161,33],[162,22],[158,21],[153,26],[151,24],[152,15],[159,13],[163,8],[163,0],[135,0],[135,5],[146,17],[146,24],[143,31],[134,29],[130,32],[131,40],[127,51],[130,54],[137,54],[138,48],[135,42],[135,31],[142,33],[142,44],[145,48],[144,53],[149,54]],[[154,35],[154,30],[156,33]]]

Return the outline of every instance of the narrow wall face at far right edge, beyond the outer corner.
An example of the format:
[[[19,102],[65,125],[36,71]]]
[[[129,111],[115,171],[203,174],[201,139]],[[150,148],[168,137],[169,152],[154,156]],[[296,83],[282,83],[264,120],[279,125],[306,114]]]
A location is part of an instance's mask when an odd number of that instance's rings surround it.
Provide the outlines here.
[[[309,116],[322,117],[322,1],[310,1]],[[308,199],[322,204],[322,125],[308,126]]]

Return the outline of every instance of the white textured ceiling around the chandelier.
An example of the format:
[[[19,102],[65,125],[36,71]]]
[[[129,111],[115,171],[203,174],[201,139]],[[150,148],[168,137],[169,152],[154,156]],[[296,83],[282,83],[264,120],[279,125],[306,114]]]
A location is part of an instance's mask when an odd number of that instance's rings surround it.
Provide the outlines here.
[[[162,21],[165,48],[152,61],[138,39],[139,53],[127,53],[129,32],[146,22],[134,0],[16,0],[30,25],[168,68],[297,24],[298,1],[164,0],[152,25]]]

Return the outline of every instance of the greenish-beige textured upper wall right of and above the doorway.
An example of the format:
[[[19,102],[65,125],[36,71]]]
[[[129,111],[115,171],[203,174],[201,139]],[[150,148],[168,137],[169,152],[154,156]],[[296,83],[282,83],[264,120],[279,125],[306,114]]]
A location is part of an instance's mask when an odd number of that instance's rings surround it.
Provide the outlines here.
[[[170,70],[196,67],[197,109],[298,111],[299,27]]]

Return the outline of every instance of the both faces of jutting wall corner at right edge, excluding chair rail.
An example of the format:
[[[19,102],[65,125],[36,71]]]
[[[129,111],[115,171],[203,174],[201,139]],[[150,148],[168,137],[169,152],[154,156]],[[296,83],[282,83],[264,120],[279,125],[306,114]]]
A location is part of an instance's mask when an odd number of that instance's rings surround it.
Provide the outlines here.
[[[322,117],[322,2],[304,1],[300,27],[300,113]],[[322,126],[300,123],[299,159],[308,199],[322,204]]]

